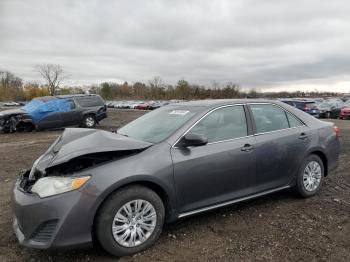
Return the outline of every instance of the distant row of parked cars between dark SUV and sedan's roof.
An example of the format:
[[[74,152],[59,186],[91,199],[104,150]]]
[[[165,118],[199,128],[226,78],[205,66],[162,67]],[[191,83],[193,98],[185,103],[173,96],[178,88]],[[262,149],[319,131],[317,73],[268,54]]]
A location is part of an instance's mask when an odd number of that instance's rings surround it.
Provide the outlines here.
[[[108,108],[153,110],[168,105],[171,102],[178,101],[107,101],[106,105]]]

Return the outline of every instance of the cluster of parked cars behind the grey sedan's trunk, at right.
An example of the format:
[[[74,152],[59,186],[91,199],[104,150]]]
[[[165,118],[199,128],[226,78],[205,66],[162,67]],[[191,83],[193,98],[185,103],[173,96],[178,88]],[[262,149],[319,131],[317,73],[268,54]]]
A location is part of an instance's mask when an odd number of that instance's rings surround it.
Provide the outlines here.
[[[350,100],[345,103],[342,99],[280,99],[280,101],[294,106],[316,118],[349,118],[348,111],[350,111]]]

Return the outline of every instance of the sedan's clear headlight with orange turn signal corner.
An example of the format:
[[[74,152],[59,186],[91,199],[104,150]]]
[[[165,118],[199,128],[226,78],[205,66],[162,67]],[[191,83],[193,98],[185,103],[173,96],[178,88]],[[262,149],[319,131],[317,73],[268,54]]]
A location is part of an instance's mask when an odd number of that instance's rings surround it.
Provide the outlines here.
[[[90,176],[83,177],[43,177],[32,187],[32,192],[40,197],[48,197],[82,187]]]

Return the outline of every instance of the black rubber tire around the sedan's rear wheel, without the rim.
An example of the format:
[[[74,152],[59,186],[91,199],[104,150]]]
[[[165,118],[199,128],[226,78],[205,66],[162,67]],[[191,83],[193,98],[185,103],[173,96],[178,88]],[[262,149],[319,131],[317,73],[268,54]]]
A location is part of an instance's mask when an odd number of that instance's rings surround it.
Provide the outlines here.
[[[321,175],[321,182],[320,182],[320,185],[317,187],[316,190],[314,191],[307,191],[305,189],[305,186],[304,186],[304,182],[303,182],[303,175],[304,175],[304,170],[306,168],[306,166],[311,162],[311,161],[316,161],[320,167],[321,167],[321,172],[322,172],[322,175]],[[302,196],[302,197],[310,197],[310,196],[313,196],[315,195],[322,187],[322,182],[323,182],[323,178],[324,178],[324,165],[323,165],[323,162],[321,160],[321,158],[317,155],[309,155],[305,161],[303,162],[303,164],[301,165],[300,167],[300,170],[298,172],[298,176],[297,176],[297,184],[296,184],[296,190],[297,192]]]

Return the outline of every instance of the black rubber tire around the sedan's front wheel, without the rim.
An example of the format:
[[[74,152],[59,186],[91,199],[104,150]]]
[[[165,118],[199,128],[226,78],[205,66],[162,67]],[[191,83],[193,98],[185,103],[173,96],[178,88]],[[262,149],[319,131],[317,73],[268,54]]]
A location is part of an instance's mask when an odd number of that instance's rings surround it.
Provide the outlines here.
[[[117,211],[127,202],[143,199],[150,202],[156,210],[157,222],[152,235],[141,245],[128,248],[119,245],[112,234],[111,226]],[[143,186],[130,186],[113,193],[102,205],[96,219],[95,233],[100,245],[115,256],[128,256],[153,245],[159,238],[164,224],[164,205],[159,196]]]

